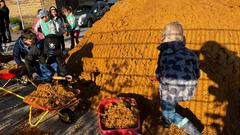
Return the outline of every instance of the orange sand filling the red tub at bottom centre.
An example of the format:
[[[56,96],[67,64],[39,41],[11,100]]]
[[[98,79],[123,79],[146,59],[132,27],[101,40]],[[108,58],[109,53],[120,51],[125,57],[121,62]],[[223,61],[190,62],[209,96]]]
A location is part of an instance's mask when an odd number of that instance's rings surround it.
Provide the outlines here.
[[[107,129],[136,128],[138,125],[139,111],[136,105],[119,100],[107,104],[101,114],[101,123]]]

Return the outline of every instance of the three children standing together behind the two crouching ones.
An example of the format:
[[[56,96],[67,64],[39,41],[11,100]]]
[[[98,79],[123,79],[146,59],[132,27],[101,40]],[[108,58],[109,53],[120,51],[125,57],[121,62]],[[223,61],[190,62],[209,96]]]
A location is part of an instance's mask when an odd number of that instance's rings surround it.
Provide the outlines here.
[[[51,6],[49,11],[45,9],[38,10],[32,29],[37,33],[39,40],[49,34],[57,35],[64,51],[64,34],[70,35],[72,49],[75,47],[75,43],[79,43],[80,28],[75,22],[75,16],[72,14],[71,7],[63,7],[62,13],[65,15],[65,18],[59,15],[57,8],[54,6]]]

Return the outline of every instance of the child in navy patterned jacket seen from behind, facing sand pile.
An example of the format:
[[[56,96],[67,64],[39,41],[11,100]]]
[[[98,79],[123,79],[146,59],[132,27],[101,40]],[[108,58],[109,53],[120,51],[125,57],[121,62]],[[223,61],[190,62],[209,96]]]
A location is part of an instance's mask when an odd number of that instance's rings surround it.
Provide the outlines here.
[[[156,80],[159,81],[164,126],[174,123],[189,135],[201,135],[188,118],[176,112],[178,102],[192,99],[200,76],[198,57],[185,47],[180,23],[171,22],[165,26],[158,49]]]

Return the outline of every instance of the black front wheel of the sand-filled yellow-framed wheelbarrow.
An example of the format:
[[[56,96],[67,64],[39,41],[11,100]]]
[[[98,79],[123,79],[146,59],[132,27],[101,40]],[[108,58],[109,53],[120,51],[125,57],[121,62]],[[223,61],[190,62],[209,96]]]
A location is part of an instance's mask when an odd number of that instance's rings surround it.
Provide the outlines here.
[[[58,116],[63,123],[71,124],[74,121],[74,112],[69,108],[60,110]]]

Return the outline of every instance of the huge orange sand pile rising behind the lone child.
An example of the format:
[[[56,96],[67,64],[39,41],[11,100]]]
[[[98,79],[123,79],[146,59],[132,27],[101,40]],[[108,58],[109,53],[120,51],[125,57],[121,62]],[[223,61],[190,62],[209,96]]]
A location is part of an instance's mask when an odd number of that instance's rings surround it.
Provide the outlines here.
[[[96,104],[119,93],[158,103],[158,84],[148,77],[155,73],[162,28],[178,20],[186,46],[202,61],[196,95],[181,105],[201,120],[206,134],[240,134],[239,13],[239,0],[121,0],[70,51],[68,68],[101,86]]]

